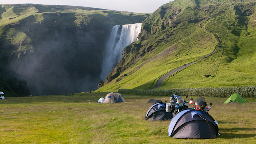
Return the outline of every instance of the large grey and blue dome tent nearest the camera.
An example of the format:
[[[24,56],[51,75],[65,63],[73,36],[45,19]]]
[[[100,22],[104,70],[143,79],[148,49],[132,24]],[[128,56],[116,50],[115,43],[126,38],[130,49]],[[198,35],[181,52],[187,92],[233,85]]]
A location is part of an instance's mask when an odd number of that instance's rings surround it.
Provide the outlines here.
[[[168,135],[172,138],[216,138],[218,126],[215,120],[206,112],[185,109],[172,118]]]

